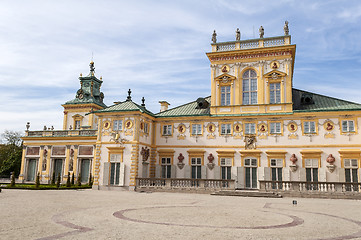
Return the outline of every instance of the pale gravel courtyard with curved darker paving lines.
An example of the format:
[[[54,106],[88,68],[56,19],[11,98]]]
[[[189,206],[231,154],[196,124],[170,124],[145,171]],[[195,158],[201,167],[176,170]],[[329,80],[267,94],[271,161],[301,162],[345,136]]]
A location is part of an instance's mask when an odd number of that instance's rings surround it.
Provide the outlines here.
[[[361,201],[128,191],[0,193],[0,239],[361,239]]]

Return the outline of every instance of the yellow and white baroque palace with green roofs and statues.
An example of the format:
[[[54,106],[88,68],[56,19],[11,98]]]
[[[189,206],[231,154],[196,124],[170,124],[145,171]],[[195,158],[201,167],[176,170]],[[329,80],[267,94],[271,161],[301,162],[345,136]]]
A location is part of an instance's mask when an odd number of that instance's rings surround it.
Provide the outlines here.
[[[240,40],[237,29],[236,41],[217,43],[215,32],[212,41],[211,96],[172,109],[161,101],[156,114],[130,90],[106,106],[91,62],[76,98],[62,105],[63,129],[26,131],[19,178],[33,182],[39,173],[49,183],[55,172],[66,181],[69,172],[86,182],[91,173],[94,189],[162,185],[154,179],[310,190],[360,181],[361,104],[292,87],[296,45],[287,23],[284,36],[264,38],[261,28],[260,38]]]

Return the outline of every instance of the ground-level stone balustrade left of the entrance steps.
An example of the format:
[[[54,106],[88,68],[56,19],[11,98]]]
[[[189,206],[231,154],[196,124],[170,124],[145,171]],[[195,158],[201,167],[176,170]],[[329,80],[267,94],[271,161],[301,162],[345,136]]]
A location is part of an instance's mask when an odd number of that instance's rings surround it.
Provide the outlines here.
[[[190,178],[137,178],[137,187],[163,189],[234,189],[234,180]]]

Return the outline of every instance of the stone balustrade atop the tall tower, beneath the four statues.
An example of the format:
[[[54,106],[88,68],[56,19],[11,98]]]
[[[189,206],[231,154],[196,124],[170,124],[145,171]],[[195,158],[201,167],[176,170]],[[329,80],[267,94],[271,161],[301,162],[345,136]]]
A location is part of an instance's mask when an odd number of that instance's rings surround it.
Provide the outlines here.
[[[258,38],[251,40],[221,42],[212,44],[212,52],[225,52],[242,49],[253,49],[263,47],[274,47],[291,44],[291,36],[280,36],[271,38]]]

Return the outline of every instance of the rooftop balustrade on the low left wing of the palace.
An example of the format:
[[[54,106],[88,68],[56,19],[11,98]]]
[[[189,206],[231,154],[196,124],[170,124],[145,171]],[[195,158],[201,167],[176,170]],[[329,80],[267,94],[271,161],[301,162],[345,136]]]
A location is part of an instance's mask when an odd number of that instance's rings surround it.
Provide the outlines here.
[[[44,130],[26,131],[28,137],[96,136],[97,130]]]

